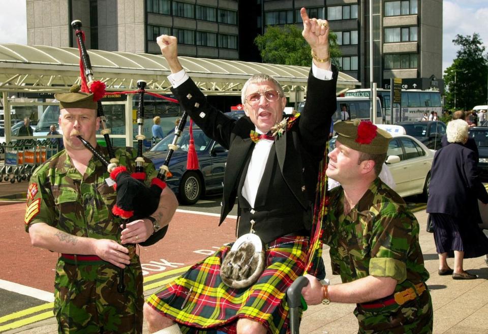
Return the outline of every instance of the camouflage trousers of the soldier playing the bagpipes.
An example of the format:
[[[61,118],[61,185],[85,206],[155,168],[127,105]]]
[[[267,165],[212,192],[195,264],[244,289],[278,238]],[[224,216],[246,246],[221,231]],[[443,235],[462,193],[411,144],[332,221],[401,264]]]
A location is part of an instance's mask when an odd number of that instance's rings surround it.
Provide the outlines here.
[[[141,265],[126,266],[123,293],[117,292],[118,271],[105,261],[58,259],[54,283],[58,333],[142,333]]]

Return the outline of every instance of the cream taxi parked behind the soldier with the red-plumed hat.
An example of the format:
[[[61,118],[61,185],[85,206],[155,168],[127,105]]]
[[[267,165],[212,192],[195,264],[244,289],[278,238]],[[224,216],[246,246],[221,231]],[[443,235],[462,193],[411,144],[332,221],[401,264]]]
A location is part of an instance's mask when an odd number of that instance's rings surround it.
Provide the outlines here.
[[[421,194],[426,200],[434,151],[404,131],[391,131],[391,126],[385,125],[378,127],[389,130],[393,137],[388,144],[386,165],[395,181],[396,193],[402,197]],[[329,141],[329,149],[335,147],[335,138]]]

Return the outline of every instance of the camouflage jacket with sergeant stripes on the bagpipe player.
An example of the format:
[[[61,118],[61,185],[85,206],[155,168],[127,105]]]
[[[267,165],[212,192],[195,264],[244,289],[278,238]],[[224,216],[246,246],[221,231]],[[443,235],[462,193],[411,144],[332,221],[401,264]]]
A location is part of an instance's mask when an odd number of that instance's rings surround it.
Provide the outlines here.
[[[105,147],[96,149],[108,156]],[[115,157],[129,172],[135,171],[137,151],[132,147],[115,148]],[[146,184],[156,176],[148,160],[144,164]],[[107,168],[95,157],[89,161],[85,174],[73,166],[65,150],[60,151],[37,168],[27,192],[25,230],[32,224],[46,223],[64,232],[97,239],[120,242],[121,219],[113,216],[116,192],[108,186]],[[133,261],[137,261],[133,257]]]

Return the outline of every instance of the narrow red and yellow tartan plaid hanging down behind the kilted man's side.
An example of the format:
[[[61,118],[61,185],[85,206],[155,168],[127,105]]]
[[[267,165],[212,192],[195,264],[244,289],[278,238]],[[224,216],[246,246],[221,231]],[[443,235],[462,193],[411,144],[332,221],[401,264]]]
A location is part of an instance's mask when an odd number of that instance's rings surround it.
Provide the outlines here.
[[[326,144],[328,147],[328,143]],[[322,235],[324,232],[322,220],[327,215],[329,204],[329,196],[327,191],[327,148],[324,149],[324,158],[320,162],[319,176],[317,181],[317,192],[314,205],[314,218],[312,221],[312,234],[310,239],[309,253],[307,254],[307,261],[305,266],[305,274],[316,275],[316,267],[313,267],[314,261],[317,262],[322,256]]]

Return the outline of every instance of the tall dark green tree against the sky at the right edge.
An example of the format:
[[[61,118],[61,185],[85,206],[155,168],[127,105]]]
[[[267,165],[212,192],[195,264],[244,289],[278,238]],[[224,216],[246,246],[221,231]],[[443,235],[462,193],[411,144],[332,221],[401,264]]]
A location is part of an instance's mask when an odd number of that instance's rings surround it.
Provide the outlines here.
[[[456,35],[452,40],[460,47],[451,66],[444,71],[446,108],[469,110],[486,103],[488,61],[483,57],[485,47],[477,33]]]

